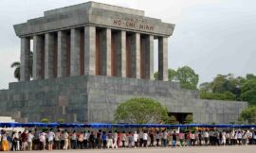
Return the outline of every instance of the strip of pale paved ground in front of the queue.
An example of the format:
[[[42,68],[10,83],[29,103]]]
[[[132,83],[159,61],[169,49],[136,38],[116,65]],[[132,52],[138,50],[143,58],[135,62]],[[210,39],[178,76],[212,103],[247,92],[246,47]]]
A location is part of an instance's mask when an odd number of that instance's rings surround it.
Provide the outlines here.
[[[28,152],[28,151],[26,151]],[[54,150],[29,151],[29,153],[255,153],[253,146],[201,146],[201,147],[166,147],[166,148],[125,148],[125,149],[95,149],[95,150]]]

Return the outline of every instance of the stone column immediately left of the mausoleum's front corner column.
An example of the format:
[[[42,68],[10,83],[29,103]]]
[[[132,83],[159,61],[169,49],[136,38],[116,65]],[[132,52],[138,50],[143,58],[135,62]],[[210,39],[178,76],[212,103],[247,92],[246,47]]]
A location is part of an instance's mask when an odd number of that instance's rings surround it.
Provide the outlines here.
[[[80,31],[71,29],[70,39],[70,76],[80,76]]]

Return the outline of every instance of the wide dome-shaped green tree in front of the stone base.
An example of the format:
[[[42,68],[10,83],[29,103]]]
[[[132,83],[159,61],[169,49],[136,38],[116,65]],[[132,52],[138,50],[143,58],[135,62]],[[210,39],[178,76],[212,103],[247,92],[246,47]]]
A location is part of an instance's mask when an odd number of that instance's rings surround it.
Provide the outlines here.
[[[151,98],[132,98],[121,103],[116,110],[115,119],[117,122],[128,123],[159,123],[166,122],[168,113],[166,107]]]

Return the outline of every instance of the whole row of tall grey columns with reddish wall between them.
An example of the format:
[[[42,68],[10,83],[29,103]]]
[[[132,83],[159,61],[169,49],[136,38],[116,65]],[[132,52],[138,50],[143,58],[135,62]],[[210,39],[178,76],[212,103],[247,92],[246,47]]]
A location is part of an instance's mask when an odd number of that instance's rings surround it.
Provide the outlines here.
[[[85,26],[33,36],[33,79],[120,76],[151,79],[154,36]],[[158,37],[158,79],[167,80],[168,42]],[[30,79],[30,37],[21,38],[20,80]]]

